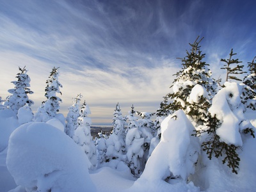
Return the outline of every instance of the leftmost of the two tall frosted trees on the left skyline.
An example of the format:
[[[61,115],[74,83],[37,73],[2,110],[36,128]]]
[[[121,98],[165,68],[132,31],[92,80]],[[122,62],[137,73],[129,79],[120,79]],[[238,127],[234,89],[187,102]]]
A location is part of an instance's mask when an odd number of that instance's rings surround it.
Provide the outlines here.
[[[15,88],[8,90],[12,95],[6,97],[6,101],[4,101],[3,105],[7,108],[13,110],[14,113],[18,113],[19,108],[28,104],[34,104],[34,102],[28,99],[28,94],[32,94],[33,92],[29,89],[30,86],[30,77],[28,76],[26,70],[26,66],[24,68],[19,67],[20,72],[17,74],[17,81],[12,81],[15,85]]]

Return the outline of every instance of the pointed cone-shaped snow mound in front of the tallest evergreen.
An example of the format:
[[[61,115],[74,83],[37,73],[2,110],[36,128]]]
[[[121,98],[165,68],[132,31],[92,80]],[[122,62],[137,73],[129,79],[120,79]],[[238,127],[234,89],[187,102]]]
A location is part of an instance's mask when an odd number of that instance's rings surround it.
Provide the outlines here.
[[[195,172],[194,164],[200,152],[198,138],[191,136],[195,128],[185,113],[179,110],[163,120],[161,129],[161,141],[149,157],[144,172],[133,188],[138,189],[138,186],[145,184],[152,186],[154,183],[154,188],[157,185],[166,186],[167,184],[168,187],[163,189],[198,191],[193,183],[186,184],[188,176]],[[154,191],[150,188],[148,190]]]

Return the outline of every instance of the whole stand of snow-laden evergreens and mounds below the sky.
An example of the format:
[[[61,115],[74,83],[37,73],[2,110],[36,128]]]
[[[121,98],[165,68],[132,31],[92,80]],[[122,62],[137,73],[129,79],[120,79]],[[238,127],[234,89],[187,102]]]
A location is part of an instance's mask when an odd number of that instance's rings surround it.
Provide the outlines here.
[[[133,178],[116,191],[255,190],[256,56],[246,70],[231,49],[221,59],[227,76],[214,79],[203,39],[178,58],[172,91],[155,113],[132,105],[124,116],[117,103],[112,131],[94,138],[83,95],[73,98],[67,116],[60,113],[58,67],[35,114],[28,70],[19,68],[10,96],[0,98],[0,153],[17,184],[12,191],[104,191],[91,177],[106,167]]]

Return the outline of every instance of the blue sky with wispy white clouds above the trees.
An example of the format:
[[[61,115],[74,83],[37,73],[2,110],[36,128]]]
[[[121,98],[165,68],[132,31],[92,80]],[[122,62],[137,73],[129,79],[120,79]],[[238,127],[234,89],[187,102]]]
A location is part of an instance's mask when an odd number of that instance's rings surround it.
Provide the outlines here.
[[[0,0],[0,96],[10,95],[19,67],[31,78],[40,106],[45,81],[60,67],[61,113],[83,95],[93,125],[111,124],[117,102],[123,115],[156,112],[172,92],[189,43],[197,36],[212,77],[225,78],[221,58],[256,56],[256,1],[4,1]]]

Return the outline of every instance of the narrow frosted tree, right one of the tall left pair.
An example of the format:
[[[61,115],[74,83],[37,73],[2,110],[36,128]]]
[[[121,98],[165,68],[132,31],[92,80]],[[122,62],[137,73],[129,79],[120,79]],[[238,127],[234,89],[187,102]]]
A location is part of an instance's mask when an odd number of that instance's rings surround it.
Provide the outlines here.
[[[60,109],[60,97],[56,96],[56,93],[60,93],[62,85],[58,81],[59,73],[58,68],[53,67],[49,78],[46,81],[45,97],[47,100],[43,101],[40,108],[38,108],[35,121],[47,122],[47,120],[54,118]]]

